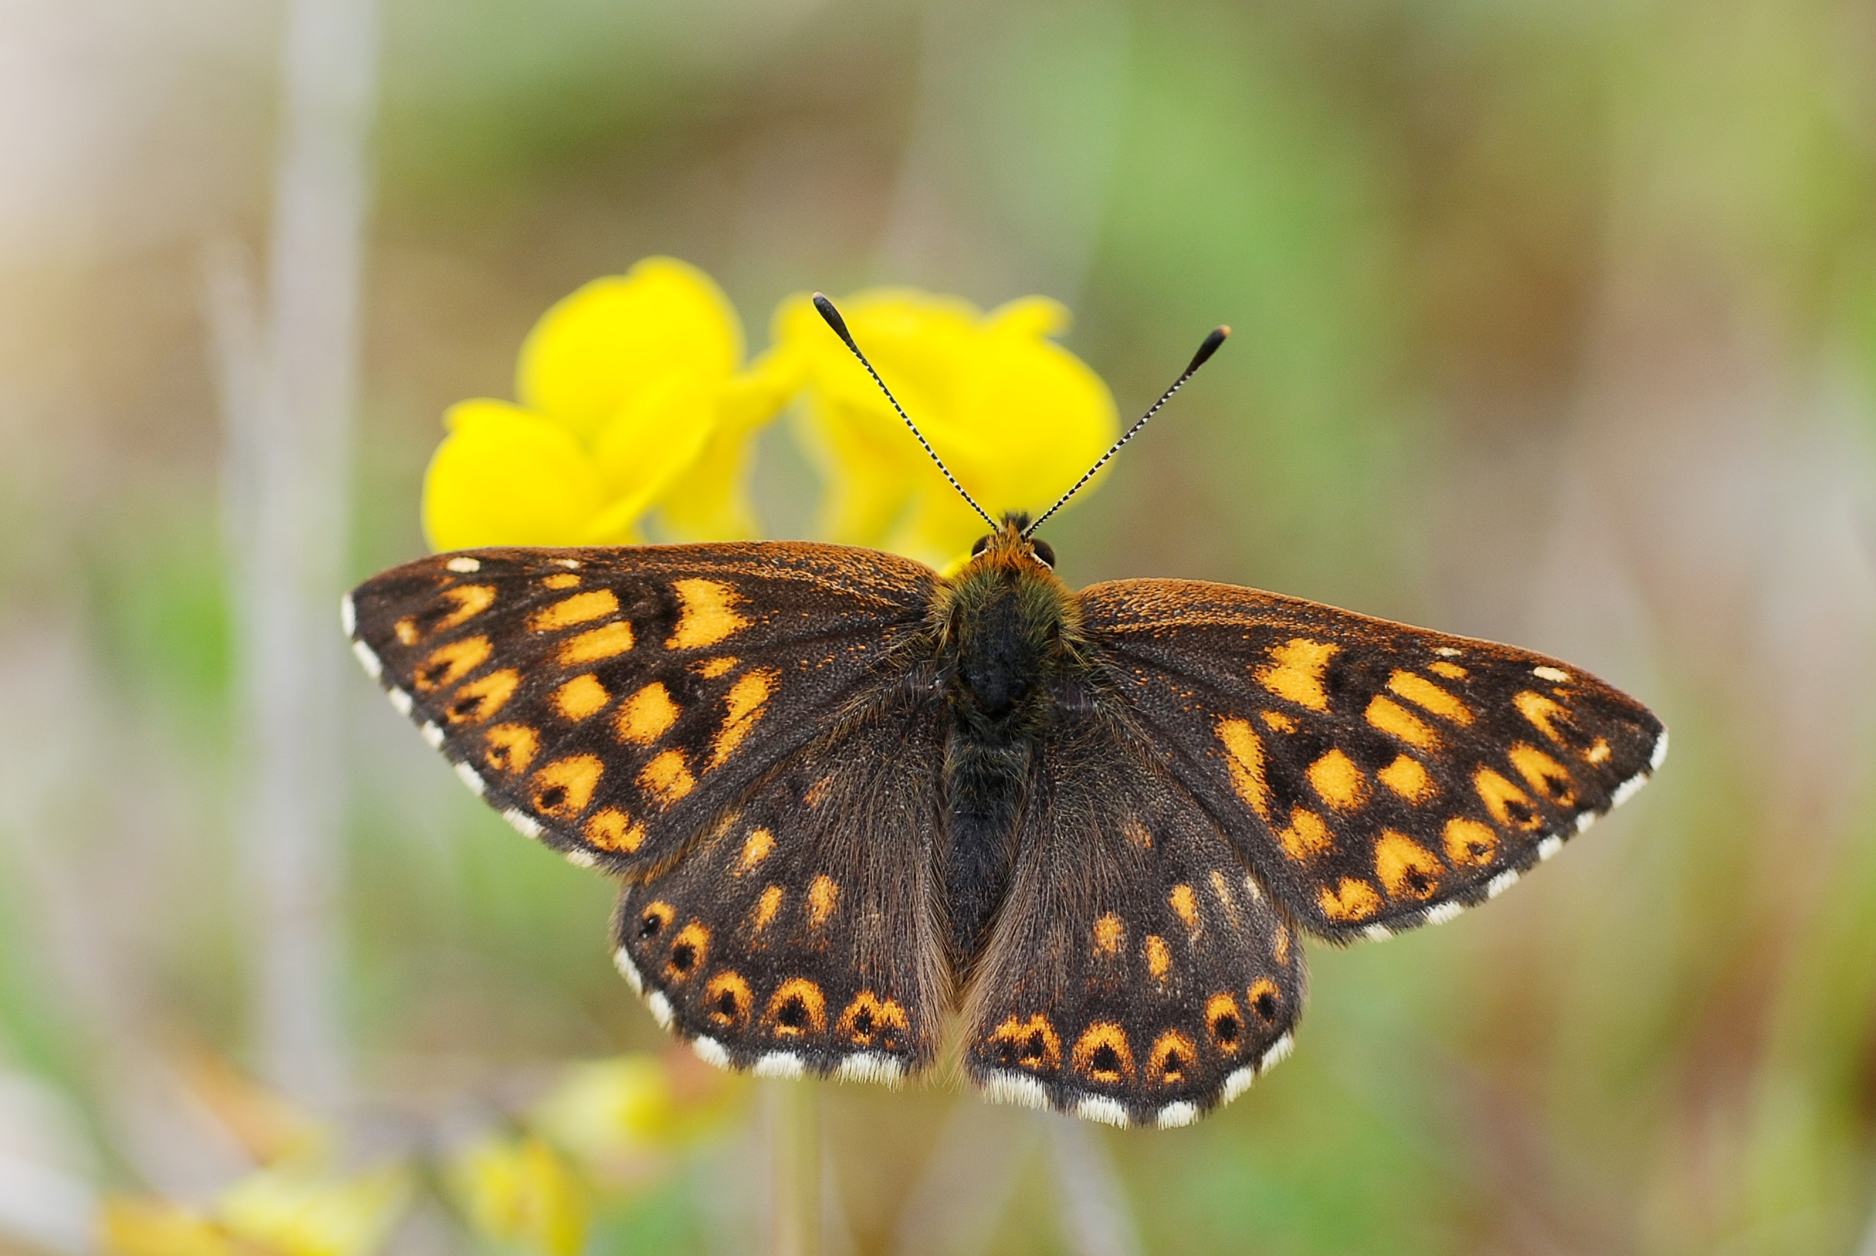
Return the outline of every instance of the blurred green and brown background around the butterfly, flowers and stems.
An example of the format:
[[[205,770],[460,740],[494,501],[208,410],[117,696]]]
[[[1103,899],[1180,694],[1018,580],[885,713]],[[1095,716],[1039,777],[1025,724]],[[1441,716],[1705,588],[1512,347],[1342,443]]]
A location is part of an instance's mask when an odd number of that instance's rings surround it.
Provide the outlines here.
[[[8,1252],[244,1172],[203,1061],[296,1087],[255,1027],[304,922],[255,911],[212,334],[218,274],[266,289],[283,39],[244,0],[0,4]],[[420,552],[443,407],[510,396],[538,314],[642,255],[709,270],[752,347],[810,287],[1045,293],[1124,415],[1236,327],[1052,529],[1069,584],[1512,640],[1673,730],[1510,896],[1315,948],[1294,1059],[1195,1128],[810,1087],[827,1250],[1876,1254],[1876,9],[383,0],[371,77],[334,580]],[[762,449],[799,535],[818,486],[784,426]],[[610,886],[328,627],[338,976],[304,1010],[340,1065],[302,1098],[362,1155],[431,1147],[664,1049]],[[756,1250],[741,1111],[589,1248]],[[392,1239],[473,1247],[435,1211]]]

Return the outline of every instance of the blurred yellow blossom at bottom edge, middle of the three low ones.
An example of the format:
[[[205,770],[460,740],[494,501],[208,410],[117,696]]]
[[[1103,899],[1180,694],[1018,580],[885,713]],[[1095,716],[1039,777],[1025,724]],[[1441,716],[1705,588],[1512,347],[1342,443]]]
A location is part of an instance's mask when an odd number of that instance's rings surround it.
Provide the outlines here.
[[[587,1187],[546,1140],[490,1136],[448,1164],[477,1233],[540,1256],[574,1256],[593,1211]]]

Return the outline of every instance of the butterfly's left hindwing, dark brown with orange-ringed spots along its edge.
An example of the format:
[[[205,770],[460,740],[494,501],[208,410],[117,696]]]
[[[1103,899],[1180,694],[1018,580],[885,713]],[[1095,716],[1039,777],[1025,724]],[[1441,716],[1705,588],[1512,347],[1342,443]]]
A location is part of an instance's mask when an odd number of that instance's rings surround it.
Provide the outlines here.
[[[670,867],[632,879],[619,971],[704,1059],[897,1081],[930,1063],[944,704],[884,687],[788,757]]]

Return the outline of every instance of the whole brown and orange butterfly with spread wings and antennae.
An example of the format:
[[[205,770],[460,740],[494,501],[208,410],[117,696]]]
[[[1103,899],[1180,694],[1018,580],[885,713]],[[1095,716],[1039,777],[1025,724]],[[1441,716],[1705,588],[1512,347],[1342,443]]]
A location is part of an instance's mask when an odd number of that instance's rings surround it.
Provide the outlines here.
[[[1647,708],[1538,653],[1227,584],[1071,591],[1034,531],[1075,488],[977,507],[949,576],[482,548],[366,580],[343,625],[471,790],[619,879],[617,967],[705,1061],[899,1083],[955,1025],[989,1098],[1112,1125],[1283,1059],[1304,935],[1495,897],[1662,762]]]

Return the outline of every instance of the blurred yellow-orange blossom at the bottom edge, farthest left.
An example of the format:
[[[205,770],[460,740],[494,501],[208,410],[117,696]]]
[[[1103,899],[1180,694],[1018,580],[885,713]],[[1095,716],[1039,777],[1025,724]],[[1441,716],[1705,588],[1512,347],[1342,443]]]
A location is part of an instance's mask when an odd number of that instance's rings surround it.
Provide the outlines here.
[[[409,1173],[330,1172],[323,1155],[248,1173],[206,1213],[163,1200],[107,1200],[103,1247],[116,1256],[368,1256],[409,1200]]]

